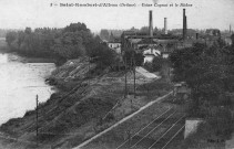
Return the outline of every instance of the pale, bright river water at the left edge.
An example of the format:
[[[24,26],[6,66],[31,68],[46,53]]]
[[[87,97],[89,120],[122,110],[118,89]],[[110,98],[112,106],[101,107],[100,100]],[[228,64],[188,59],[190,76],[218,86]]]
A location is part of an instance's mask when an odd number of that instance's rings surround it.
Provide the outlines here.
[[[54,89],[44,78],[55,68],[53,63],[22,63],[20,56],[0,53],[0,125],[34,109],[35,95],[45,102]]]

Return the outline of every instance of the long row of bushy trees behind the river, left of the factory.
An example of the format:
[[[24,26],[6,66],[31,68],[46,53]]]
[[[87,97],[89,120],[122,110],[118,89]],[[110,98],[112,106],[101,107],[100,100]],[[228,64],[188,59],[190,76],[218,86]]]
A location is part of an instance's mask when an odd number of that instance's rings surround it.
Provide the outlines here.
[[[114,62],[114,53],[84,23],[71,23],[63,29],[39,28],[32,31],[27,28],[24,31],[10,31],[6,41],[11,51],[29,56],[63,62],[79,56],[99,57],[95,60],[104,66]]]

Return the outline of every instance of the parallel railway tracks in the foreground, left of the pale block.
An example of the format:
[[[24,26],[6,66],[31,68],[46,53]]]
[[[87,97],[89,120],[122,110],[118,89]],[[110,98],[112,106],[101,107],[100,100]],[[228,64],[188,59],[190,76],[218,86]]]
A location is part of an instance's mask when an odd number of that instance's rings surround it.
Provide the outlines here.
[[[116,149],[166,149],[184,129],[184,118],[183,114],[170,108]]]

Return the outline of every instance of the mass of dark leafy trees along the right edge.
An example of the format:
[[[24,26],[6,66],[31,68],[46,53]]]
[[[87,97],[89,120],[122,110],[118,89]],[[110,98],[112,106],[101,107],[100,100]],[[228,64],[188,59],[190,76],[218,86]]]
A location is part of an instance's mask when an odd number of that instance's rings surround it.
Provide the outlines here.
[[[174,51],[170,60],[174,82],[186,82],[192,89],[189,114],[204,118],[214,135],[230,137],[234,130],[234,44],[226,46],[220,40],[208,47],[196,43]]]

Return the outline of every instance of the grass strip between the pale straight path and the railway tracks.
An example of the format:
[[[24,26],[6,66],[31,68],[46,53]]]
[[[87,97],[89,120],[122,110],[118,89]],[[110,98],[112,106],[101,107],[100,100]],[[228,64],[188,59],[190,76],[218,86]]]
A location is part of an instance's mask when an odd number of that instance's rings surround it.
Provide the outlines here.
[[[165,110],[169,107],[170,105],[166,104],[155,104],[141,111],[138,116],[134,116],[130,120],[126,120],[125,123],[115,127],[113,130],[89,143],[84,147],[84,149],[92,147],[102,148],[103,146],[105,146],[108,149],[116,148],[128,138],[128,131],[130,131],[132,135],[138,132],[141,128],[156,118],[159,114],[161,114],[159,113],[160,110]]]

